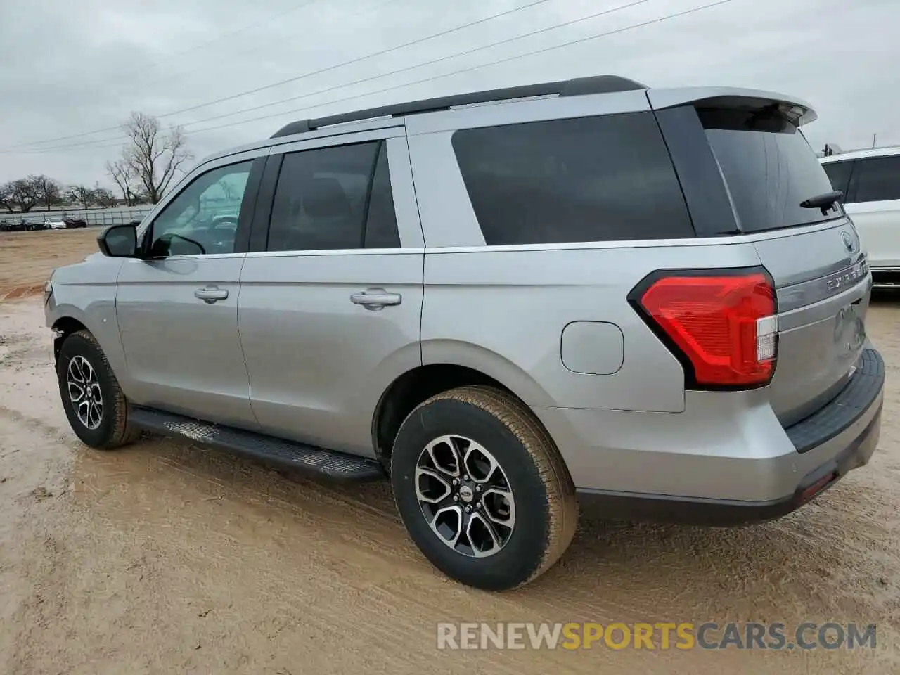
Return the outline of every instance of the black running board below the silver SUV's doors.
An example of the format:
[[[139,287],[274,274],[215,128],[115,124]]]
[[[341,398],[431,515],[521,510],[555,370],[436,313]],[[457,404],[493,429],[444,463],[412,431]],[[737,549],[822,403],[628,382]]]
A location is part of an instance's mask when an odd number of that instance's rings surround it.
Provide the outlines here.
[[[381,464],[372,459],[307,446],[253,431],[224,427],[170,412],[136,406],[129,410],[128,419],[135,426],[160,436],[188,439],[201,446],[225,450],[286,468],[317,473],[333,480],[361,482],[384,478]]]

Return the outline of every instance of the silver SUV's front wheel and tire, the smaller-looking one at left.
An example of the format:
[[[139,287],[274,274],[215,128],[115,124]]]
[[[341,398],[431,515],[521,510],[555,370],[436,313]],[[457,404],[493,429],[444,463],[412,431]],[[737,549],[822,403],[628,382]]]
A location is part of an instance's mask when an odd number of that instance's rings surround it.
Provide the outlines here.
[[[57,379],[68,423],[85,446],[112,450],[128,445],[140,436],[139,429],[128,422],[128,401],[119,381],[89,331],[72,333],[62,343],[57,359]],[[70,383],[74,385],[71,393]],[[84,396],[76,396],[79,389]]]

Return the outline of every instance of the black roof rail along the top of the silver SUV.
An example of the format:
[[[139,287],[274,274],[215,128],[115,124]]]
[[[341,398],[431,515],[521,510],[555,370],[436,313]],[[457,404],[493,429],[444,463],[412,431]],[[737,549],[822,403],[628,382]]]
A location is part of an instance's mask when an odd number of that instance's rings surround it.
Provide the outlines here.
[[[627,92],[639,89],[647,89],[647,85],[616,75],[599,75],[591,77],[574,77],[560,82],[545,82],[539,85],[508,86],[502,89],[488,89],[482,92],[469,94],[453,94],[438,98],[426,98],[420,101],[408,103],[393,103],[377,108],[366,108],[356,112],[342,112],[337,115],[320,117],[309,120],[292,121],[275,131],[273,139],[282,136],[304,133],[328,127],[332,124],[343,124],[348,121],[371,120],[376,117],[400,117],[417,112],[435,112],[448,110],[456,105],[470,105],[472,103],[494,103],[498,101],[511,101],[517,98],[530,98],[533,96],[584,96],[588,94],[610,94],[612,92]]]

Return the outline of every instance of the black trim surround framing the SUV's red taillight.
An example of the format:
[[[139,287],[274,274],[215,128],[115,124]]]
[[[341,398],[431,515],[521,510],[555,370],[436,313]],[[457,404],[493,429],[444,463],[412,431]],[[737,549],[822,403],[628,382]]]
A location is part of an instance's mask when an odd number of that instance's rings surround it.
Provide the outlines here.
[[[653,330],[653,335],[657,338],[660,338],[660,341],[663,345],[665,345],[672,356],[675,356],[679,360],[682,369],[684,370],[684,388],[691,391],[700,391],[700,392],[746,392],[752,389],[761,389],[762,387],[768,386],[772,378],[775,376],[775,369],[778,367],[778,353],[779,353],[779,335],[775,334],[775,363],[772,365],[772,371],[769,375],[769,379],[765,382],[756,383],[756,384],[703,384],[698,383],[697,374],[694,372],[694,365],[690,362],[690,359],[687,354],[685,354],[681,347],[679,347],[675,341],[666,333],[665,330],[662,329],[659,323],[653,319],[648,311],[644,309],[644,305],[641,304],[641,299],[644,297],[644,293],[646,293],[650,287],[658,282],[660,279],[668,276],[746,276],[746,275],[763,275],[766,278],[766,281],[769,283],[770,288],[772,289],[772,302],[775,305],[773,314],[779,313],[779,299],[778,293],[775,290],[775,282],[772,279],[772,275],[769,274],[769,270],[765,267],[752,266],[752,267],[720,267],[716,269],[658,269],[654,272],[651,272],[649,275],[646,275],[641,281],[639,281],[635,287],[628,293],[627,300],[628,303],[635,308],[635,311],[644,320],[644,323],[647,324],[647,327]]]

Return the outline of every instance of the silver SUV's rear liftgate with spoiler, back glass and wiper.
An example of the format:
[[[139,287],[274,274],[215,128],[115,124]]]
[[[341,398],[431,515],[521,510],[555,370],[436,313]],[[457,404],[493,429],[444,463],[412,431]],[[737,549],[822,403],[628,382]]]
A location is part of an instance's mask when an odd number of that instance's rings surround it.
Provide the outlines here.
[[[804,104],[746,96],[710,97],[690,107],[732,211],[719,231],[707,227],[701,234],[747,237],[776,288],[779,343],[770,401],[788,426],[832,400],[853,373],[866,343],[866,257],[840,201],[823,196],[833,193],[832,184],[799,129],[815,113]],[[685,106],[679,110],[685,119]],[[666,119],[674,118],[662,114],[663,130]],[[678,165],[674,153],[673,159]],[[699,175],[700,160],[690,161],[687,178]],[[687,166],[683,158],[681,164]]]

